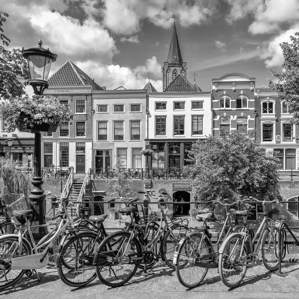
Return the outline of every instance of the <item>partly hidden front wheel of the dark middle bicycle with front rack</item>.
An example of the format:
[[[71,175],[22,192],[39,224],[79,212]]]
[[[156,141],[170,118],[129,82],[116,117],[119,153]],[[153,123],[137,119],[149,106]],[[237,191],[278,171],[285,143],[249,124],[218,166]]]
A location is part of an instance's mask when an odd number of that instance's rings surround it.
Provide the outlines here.
[[[179,243],[179,232],[185,231],[186,229],[188,229],[187,225],[173,225],[171,226],[171,230],[173,232],[174,238],[169,229],[163,237],[161,258],[171,269],[176,269],[176,265],[173,264],[173,254],[176,249],[176,244]]]

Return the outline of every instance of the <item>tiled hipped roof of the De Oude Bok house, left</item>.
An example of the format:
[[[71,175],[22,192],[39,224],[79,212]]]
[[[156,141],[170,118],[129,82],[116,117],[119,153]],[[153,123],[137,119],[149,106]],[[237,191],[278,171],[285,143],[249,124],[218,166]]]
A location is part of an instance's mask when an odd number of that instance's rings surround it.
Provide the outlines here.
[[[71,60],[63,64],[52,76],[48,79],[49,85],[91,85],[93,90],[103,90],[101,86],[94,82],[80,68],[77,67]]]

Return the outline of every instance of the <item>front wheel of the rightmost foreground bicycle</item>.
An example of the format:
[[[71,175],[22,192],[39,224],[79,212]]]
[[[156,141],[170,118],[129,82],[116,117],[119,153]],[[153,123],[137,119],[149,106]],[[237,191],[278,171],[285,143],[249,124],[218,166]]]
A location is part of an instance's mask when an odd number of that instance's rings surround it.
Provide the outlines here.
[[[278,268],[278,240],[279,229],[277,227],[267,228],[263,235],[261,247],[263,264],[270,271]],[[281,241],[281,254],[283,254],[283,236],[281,236]]]

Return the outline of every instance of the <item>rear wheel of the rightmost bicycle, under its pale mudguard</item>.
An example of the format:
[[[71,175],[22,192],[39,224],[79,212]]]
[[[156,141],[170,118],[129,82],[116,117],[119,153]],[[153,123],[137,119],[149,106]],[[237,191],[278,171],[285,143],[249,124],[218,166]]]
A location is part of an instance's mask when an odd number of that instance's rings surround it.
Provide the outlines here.
[[[223,242],[223,253],[219,255],[219,275],[228,288],[238,286],[247,271],[246,263],[239,260],[249,254],[246,244],[242,249],[242,235],[233,234]]]

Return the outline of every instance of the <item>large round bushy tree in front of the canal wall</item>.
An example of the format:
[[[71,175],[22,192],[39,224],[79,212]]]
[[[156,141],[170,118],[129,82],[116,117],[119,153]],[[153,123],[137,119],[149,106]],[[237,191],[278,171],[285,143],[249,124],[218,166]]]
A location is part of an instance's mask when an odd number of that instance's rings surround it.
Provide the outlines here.
[[[220,138],[197,140],[189,151],[193,190],[199,200],[264,199],[277,187],[278,159],[253,139],[233,131]]]

